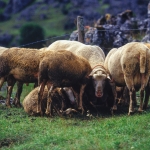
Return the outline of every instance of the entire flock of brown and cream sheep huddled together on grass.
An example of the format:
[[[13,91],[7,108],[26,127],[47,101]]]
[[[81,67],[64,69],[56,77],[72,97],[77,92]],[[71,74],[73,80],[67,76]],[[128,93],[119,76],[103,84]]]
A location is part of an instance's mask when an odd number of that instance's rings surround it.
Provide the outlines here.
[[[121,97],[125,89],[128,91],[129,115],[134,112],[135,94],[140,90],[141,112],[149,99],[149,48],[149,43],[131,42],[113,48],[105,57],[96,45],[69,40],[58,40],[41,49],[0,47],[0,88],[7,82],[6,106],[11,107],[17,82],[16,106],[20,106],[23,84],[35,83],[36,88],[23,100],[30,115],[83,114],[99,105],[113,112],[117,110],[119,88]]]

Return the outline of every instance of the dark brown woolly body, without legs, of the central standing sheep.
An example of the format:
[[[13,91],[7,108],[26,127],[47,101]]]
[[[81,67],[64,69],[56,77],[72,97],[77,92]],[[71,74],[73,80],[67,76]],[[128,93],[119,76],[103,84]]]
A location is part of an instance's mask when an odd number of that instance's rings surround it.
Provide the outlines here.
[[[92,69],[85,58],[66,50],[53,51],[50,55],[48,54],[40,63],[40,77],[47,78],[61,87],[71,86],[76,82],[86,82]]]

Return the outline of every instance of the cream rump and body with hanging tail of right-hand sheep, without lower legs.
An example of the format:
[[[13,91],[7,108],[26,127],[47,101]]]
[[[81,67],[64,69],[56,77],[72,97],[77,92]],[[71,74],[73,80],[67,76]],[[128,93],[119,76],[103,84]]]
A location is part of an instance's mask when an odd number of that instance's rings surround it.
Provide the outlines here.
[[[146,73],[146,53],[148,48],[138,42],[128,43],[108,53],[105,66],[118,86],[125,86],[124,76],[134,76],[134,84],[141,85],[140,73]],[[107,60],[107,56],[106,56]]]

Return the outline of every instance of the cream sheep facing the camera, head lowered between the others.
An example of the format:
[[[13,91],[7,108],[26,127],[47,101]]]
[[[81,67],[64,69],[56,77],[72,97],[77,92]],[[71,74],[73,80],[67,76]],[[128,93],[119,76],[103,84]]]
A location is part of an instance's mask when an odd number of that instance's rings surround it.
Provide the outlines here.
[[[90,77],[93,80],[95,96],[100,98],[103,96],[105,80],[109,78],[106,69],[104,68],[105,54],[103,50],[96,45],[85,45],[78,41],[58,40],[49,45],[48,50],[65,49],[73,52],[77,56],[82,56],[88,60],[92,67]]]

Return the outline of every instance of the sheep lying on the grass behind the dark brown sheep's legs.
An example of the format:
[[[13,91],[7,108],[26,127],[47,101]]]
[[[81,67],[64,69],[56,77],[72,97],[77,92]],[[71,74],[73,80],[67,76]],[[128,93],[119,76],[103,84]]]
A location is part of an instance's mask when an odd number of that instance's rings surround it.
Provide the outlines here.
[[[36,87],[35,89],[33,89],[24,98],[23,103],[22,103],[24,111],[30,116],[38,115],[37,114],[38,89],[39,87]],[[67,90],[70,90],[70,89],[67,89]],[[42,112],[46,111],[47,95],[48,95],[48,89],[47,87],[45,87],[43,91],[42,101],[41,101]],[[63,105],[66,105],[66,107],[64,107]],[[72,104],[70,103],[70,100],[68,99],[67,93],[61,88],[55,89],[54,94],[52,96],[52,106],[58,115],[70,113],[70,111],[68,112],[68,110],[75,111],[75,109],[71,109],[71,108],[68,109],[70,106],[72,106]],[[64,109],[66,110],[64,111]]]

